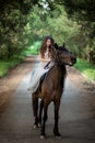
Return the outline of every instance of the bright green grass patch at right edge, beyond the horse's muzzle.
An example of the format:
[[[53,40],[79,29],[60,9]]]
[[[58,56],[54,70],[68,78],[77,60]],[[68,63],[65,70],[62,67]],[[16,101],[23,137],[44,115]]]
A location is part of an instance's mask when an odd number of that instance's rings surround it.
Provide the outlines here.
[[[78,58],[78,62],[74,67],[79,69],[86,77],[87,80],[95,81],[95,65],[84,59]]]

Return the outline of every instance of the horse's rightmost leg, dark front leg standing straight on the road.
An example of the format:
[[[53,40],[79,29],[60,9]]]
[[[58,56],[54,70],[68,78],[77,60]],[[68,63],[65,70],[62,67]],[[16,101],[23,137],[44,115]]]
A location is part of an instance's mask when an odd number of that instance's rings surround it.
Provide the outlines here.
[[[59,128],[58,128],[60,101],[55,101],[54,103],[55,103],[55,128],[54,128],[54,134],[55,134],[56,138],[61,139],[61,134],[59,133]]]

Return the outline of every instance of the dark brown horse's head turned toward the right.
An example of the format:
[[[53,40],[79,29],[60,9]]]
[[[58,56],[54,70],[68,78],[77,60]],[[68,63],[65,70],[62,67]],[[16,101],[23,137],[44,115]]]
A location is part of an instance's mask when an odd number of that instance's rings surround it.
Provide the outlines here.
[[[73,66],[76,63],[76,57],[72,53],[70,53],[63,44],[62,46],[58,46],[57,48],[57,62],[60,65]]]

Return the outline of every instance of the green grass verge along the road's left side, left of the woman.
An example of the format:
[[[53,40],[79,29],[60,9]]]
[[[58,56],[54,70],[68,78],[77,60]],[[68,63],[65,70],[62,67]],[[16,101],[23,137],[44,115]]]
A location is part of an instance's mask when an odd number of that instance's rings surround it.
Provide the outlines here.
[[[0,61],[0,77],[3,77],[8,72],[23,62],[26,55],[37,55],[40,47],[40,41],[35,42],[32,46],[23,50],[17,56],[14,55],[10,59]]]

